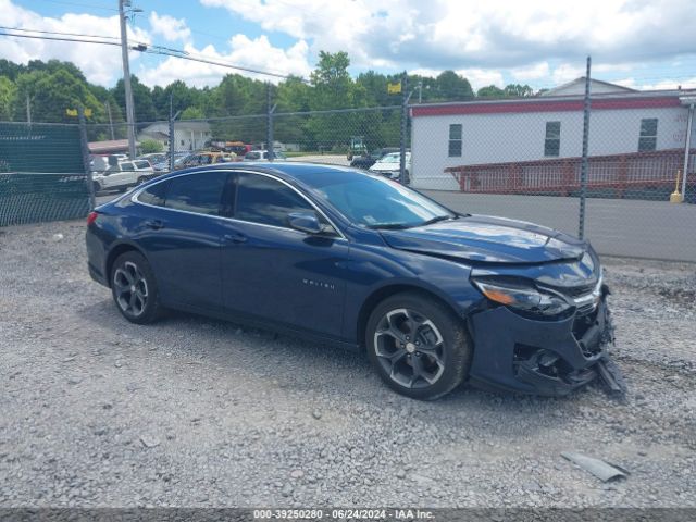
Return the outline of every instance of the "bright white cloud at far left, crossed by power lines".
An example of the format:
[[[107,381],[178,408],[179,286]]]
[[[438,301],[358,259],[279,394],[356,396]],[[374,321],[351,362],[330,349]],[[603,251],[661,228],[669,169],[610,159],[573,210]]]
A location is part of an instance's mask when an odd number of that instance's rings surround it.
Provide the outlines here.
[[[115,38],[120,38],[121,34],[117,15],[64,14],[61,17],[45,17],[10,0],[0,0],[0,13],[2,25],[10,27]],[[149,35],[142,29],[129,27],[128,34],[133,41],[150,41]],[[132,60],[137,60],[138,57],[137,52],[130,53]],[[17,63],[50,59],[70,61],[85,73],[89,82],[102,85],[112,84],[122,76],[121,48],[116,46],[2,37],[0,58]]]

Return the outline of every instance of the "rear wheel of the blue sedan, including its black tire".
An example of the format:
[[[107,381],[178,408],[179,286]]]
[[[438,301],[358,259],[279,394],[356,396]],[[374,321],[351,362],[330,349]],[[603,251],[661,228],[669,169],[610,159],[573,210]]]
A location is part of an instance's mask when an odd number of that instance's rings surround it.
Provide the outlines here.
[[[136,251],[116,258],[110,275],[114,303],[132,323],[148,324],[162,314],[160,293],[150,263]]]

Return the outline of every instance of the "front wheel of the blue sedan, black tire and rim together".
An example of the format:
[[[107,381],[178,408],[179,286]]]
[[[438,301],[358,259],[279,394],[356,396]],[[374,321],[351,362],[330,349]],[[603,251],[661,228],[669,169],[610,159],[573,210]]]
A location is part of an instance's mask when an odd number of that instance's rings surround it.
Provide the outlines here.
[[[365,346],[389,387],[421,400],[437,399],[459,386],[473,353],[463,321],[437,299],[411,291],[377,304],[368,320]]]

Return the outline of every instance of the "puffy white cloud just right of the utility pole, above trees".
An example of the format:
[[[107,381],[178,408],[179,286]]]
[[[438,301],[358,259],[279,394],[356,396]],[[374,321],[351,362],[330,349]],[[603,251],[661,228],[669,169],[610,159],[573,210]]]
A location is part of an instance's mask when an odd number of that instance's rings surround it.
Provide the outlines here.
[[[192,57],[202,57],[211,61],[232,63],[241,67],[274,72],[282,75],[294,74],[309,76],[311,71],[308,52],[309,46],[304,40],[299,40],[288,49],[273,47],[265,36],[250,39],[245,35],[235,35],[229,40],[229,51],[217,51],[213,46],[196,49],[188,45],[185,48]],[[215,85],[222,76],[228,73],[240,73],[246,76],[259,77],[278,82],[281,78],[262,76],[207,63],[183,61],[177,58],[167,58],[153,69],[141,69],[138,77],[146,85],[169,85],[176,79],[182,79],[188,85],[202,87]]]

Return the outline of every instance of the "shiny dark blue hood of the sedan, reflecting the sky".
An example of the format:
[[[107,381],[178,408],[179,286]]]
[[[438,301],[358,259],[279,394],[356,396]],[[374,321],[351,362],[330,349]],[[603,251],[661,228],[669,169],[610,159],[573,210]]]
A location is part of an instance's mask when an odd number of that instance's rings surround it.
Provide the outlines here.
[[[405,231],[380,231],[393,248],[480,263],[543,263],[581,259],[587,244],[562,232],[489,215]]]

